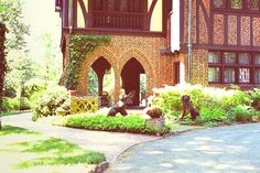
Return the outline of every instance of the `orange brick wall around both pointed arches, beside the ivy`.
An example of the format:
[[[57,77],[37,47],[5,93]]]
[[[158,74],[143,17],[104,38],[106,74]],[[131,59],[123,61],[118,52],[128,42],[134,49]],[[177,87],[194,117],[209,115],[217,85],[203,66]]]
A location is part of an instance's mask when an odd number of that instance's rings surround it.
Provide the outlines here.
[[[113,98],[118,99],[120,91],[120,74],[124,64],[134,57],[143,66],[147,75],[147,94],[151,94],[152,88],[161,87],[165,84],[173,84],[172,58],[160,54],[160,47],[166,44],[163,37],[143,36],[119,36],[112,35],[111,43],[97,47],[87,54],[80,73],[79,94],[88,91],[88,72],[91,65],[99,57],[106,58],[115,71],[115,93]]]

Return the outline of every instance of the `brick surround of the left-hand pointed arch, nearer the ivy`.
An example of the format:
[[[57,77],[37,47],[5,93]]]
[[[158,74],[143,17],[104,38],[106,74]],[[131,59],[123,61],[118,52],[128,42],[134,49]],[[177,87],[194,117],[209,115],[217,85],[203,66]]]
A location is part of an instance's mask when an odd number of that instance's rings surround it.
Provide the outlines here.
[[[115,93],[112,94],[112,97],[117,98],[118,95],[116,90],[120,90],[120,84],[117,77],[118,76],[117,74],[119,73],[117,57],[115,56],[113,53],[111,53],[109,50],[107,50],[104,46],[100,46],[94,52],[87,54],[87,57],[84,61],[83,67],[80,71],[79,86],[77,90],[79,94],[84,94],[84,95],[88,94],[88,72],[89,72],[89,68],[94,65],[94,63],[100,57],[104,57],[115,71]]]

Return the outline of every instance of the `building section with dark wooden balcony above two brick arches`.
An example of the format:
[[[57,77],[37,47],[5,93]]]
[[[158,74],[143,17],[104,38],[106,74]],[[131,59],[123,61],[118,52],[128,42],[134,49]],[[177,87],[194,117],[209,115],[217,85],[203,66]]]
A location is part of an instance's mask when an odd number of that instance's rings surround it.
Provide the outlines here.
[[[94,69],[98,76],[101,95],[104,75],[112,69],[113,99],[120,88],[126,93],[137,91],[134,105],[140,104],[140,77],[145,74],[145,94],[153,87],[173,84],[172,57],[160,54],[169,45],[167,29],[172,8],[171,0],[56,0],[56,11],[62,18],[62,51],[64,76],[69,58],[72,34],[109,35],[109,45],[88,53],[83,63],[79,86],[80,94],[88,94],[88,73]]]

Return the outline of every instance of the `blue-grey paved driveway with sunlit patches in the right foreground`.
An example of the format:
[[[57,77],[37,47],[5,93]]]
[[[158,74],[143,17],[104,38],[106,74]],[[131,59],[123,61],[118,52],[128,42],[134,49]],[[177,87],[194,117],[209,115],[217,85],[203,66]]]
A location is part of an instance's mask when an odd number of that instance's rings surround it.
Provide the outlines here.
[[[107,173],[260,173],[260,123],[186,132],[133,147]]]

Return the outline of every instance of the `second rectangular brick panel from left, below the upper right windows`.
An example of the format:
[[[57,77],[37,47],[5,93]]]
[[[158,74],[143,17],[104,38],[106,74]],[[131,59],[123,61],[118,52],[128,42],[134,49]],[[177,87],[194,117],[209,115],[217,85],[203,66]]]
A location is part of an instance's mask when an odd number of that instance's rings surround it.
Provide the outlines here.
[[[237,17],[228,17],[228,44],[237,45]]]

